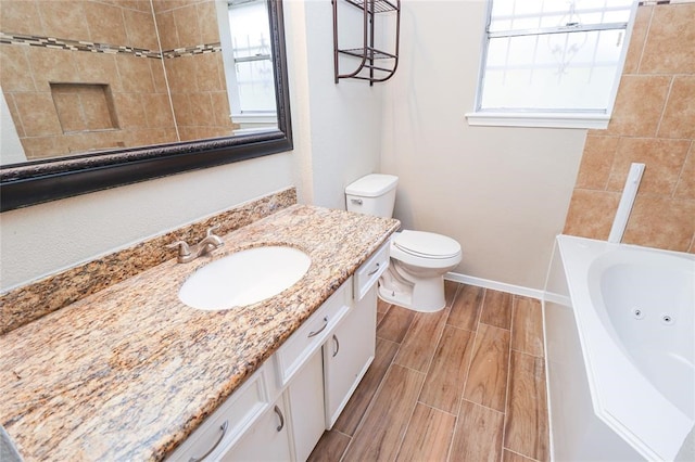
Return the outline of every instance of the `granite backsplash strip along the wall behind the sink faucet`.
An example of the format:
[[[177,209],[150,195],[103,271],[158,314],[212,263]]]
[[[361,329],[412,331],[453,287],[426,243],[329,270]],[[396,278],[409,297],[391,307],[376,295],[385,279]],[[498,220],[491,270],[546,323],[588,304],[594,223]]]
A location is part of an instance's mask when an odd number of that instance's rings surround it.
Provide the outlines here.
[[[0,335],[174,258],[167,244],[198,242],[214,226],[224,235],[294,204],[296,190],[289,188],[0,294]]]

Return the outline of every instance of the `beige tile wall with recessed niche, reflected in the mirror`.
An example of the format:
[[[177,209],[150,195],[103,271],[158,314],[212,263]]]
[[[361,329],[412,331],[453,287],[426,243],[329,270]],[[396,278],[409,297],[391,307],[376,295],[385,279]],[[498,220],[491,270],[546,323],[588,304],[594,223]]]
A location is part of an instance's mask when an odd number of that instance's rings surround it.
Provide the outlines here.
[[[219,42],[212,0],[154,4],[163,50]],[[0,30],[5,34],[160,51],[154,20],[150,2],[143,0],[0,1]],[[164,62],[127,53],[0,44],[0,86],[27,158],[231,134],[222,53]],[[66,129],[80,124],[66,119],[71,111],[59,114],[50,86],[56,82],[106,86],[115,127]]]

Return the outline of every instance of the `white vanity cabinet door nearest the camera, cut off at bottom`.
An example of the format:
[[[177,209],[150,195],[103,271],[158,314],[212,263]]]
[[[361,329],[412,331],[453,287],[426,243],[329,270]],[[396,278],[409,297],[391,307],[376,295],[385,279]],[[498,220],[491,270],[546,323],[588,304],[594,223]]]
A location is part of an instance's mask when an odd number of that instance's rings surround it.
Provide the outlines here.
[[[227,451],[222,461],[290,461],[289,422],[285,395],[270,406],[244,435]]]

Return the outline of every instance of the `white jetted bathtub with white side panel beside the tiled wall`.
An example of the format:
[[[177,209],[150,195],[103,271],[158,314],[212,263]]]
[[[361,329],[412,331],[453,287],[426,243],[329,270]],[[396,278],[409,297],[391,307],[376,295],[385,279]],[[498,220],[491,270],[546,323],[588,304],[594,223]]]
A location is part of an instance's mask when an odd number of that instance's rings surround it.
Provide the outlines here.
[[[683,457],[694,312],[695,255],[557,238],[544,300],[554,460]]]

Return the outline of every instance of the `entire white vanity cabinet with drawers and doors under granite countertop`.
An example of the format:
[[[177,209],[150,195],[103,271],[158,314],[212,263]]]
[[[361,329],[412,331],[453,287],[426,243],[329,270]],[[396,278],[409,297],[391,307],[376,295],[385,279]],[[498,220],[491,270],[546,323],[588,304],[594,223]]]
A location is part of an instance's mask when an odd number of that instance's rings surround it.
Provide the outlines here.
[[[176,451],[172,461],[305,461],[375,355],[387,242]]]

